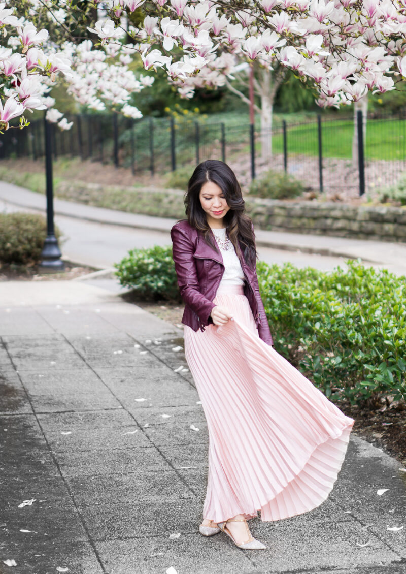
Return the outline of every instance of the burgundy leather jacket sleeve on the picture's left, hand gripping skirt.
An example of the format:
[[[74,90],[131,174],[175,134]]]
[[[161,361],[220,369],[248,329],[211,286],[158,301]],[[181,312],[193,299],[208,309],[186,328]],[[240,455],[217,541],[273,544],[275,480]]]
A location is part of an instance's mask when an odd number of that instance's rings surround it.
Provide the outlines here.
[[[194,247],[189,237],[177,226],[172,227],[172,255],[175,272],[178,279],[179,291],[185,304],[196,313],[200,325],[208,325],[213,307],[216,305],[209,301],[201,292],[197,278],[196,262],[194,260]]]

